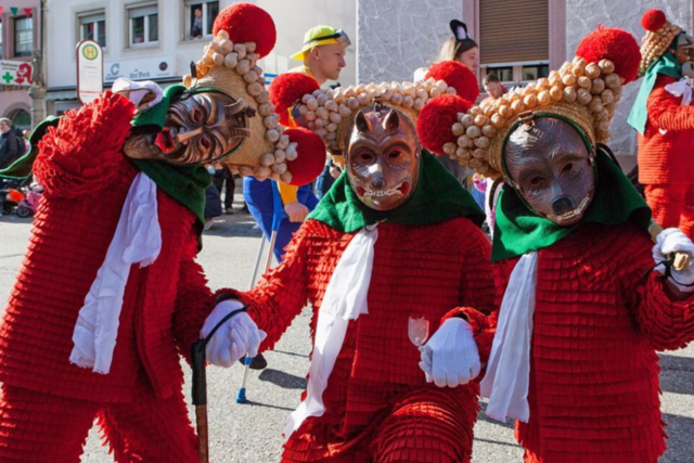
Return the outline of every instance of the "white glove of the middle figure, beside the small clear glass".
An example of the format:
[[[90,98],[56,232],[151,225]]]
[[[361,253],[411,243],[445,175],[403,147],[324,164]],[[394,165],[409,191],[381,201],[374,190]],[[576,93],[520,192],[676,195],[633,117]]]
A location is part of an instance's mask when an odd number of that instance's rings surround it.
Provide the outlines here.
[[[474,380],[480,370],[473,329],[460,318],[448,319],[420,348],[420,368],[438,387],[455,387]]]

